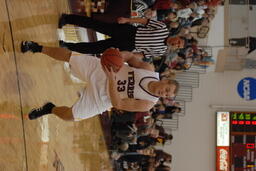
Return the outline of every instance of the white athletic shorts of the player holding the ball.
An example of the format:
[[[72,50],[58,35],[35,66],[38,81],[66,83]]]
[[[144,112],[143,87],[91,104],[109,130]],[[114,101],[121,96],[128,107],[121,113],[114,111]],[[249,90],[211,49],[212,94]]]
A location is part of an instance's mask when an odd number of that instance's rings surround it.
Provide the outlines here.
[[[112,104],[108,95],[108,82],[100,59],[72,52],[69,64],[71,73],[87,82],[80,91],[79,100],[72,107],[74,120],[87,119],[110,109]]]

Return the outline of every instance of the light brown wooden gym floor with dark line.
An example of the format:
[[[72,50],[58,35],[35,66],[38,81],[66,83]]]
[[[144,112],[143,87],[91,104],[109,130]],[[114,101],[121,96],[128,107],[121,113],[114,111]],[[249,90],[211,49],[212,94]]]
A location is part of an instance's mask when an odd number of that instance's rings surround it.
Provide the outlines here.
[[[0,9],[0,171],[111,170],[98,117],[27,119],[46,101],[71,106],[83,86],[70,81],[62,62],[19,47],[22,40],[57,46],[67,0],[0,0]]]

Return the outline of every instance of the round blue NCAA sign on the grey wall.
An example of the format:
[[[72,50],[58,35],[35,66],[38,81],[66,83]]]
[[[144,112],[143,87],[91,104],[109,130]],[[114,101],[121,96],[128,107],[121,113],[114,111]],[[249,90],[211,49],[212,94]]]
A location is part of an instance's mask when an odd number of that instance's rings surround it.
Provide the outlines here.
[[[245,100],[256,99],[256,79],[252,77],[245,77],[239,81],[237,91],[241,98]]]

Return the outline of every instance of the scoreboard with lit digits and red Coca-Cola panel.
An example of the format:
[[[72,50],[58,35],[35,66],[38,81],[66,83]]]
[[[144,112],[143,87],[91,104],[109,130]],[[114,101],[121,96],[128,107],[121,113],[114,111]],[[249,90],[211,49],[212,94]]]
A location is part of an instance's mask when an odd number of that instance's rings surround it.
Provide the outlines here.
[[[217,171],[256,171],[256,112],[217,112]]]

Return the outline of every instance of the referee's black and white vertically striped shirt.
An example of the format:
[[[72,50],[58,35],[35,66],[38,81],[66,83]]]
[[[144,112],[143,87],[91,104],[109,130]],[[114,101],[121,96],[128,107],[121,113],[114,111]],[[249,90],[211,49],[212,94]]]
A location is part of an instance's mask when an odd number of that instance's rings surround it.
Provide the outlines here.
[[[152,61],[167,51],[166,38],[169,31],[165,23],[149,20],[144,27],[139,26],[135,35],[135,49],[142,52],[146,61]]]

